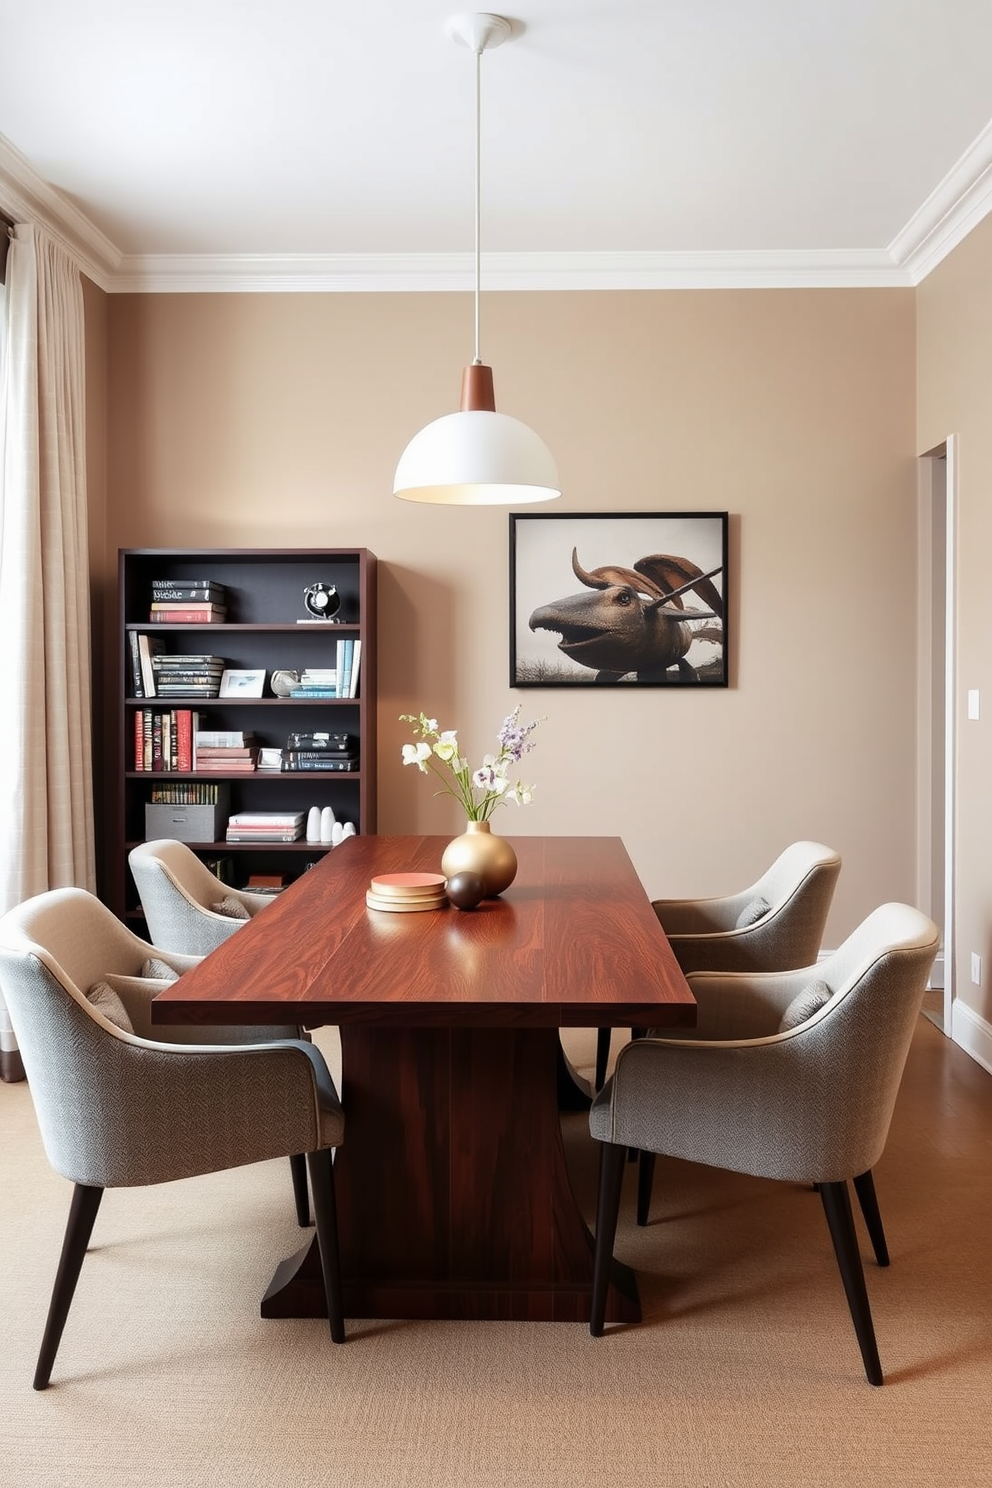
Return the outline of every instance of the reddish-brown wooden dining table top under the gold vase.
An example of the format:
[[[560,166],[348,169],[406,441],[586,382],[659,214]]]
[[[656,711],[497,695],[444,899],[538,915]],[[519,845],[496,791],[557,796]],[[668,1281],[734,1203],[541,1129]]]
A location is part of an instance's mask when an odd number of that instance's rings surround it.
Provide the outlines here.
[[[355,836],[198,967],[152,1022],[405,1027],[692,1025],[696,1004],[620,838],[512,838],[477,909],[366,906],[375,873],[439,872],[443,836]]]

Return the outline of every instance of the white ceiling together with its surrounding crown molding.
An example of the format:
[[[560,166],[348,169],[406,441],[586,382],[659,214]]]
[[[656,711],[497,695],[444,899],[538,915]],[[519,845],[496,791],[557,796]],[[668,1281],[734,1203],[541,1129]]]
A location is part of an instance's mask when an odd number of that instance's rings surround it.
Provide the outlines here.
[[[107,289],[448,289],[446,0],[0,0],[0,205]],[[521,0],[492,287],[912,284],[992,208],[991,0]],[[6,141],[6,143],[4,143]]]

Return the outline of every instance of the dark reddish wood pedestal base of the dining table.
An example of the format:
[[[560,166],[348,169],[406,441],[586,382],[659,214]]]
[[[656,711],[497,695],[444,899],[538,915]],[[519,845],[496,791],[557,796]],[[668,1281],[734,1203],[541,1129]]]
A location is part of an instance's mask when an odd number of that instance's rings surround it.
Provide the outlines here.
[[[587,1321],[592,1237],[558,1115],[555,1028],[342,1027],[335,1176],[348,1317]],[[320,1317],[315,1245],[263,1317]],[[614,1262],[607,1318],[638,1321]]]

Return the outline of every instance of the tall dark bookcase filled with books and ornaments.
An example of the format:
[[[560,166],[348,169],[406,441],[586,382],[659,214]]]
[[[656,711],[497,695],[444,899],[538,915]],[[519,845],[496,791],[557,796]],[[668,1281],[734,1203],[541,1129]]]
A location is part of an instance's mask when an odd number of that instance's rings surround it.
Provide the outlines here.
[[[153,835],[181,838],[204,862],[229,859],[233,882],[245,885],[292,882],[330,845],[228,841],[232,814],[330,808],[355,832],[375,832],[375,577],[364,548],[120,551],[117,784],[104,853],[117,914],[140,912],[126,859]],[[308,589],[338,601],[332,620],[308,610]],[[173,609],[152,609],[167,603]],[[177,610],[189,619],[158,619]],[[262,695],[245,680],[220,696],[220,671],[263,673]],[[333,690],[293,686],[293,676],[329,673],[341,677]],[[220,787],[216,805],[193,790],[207,781]],[[162,796],[171,783],[189,795]]]

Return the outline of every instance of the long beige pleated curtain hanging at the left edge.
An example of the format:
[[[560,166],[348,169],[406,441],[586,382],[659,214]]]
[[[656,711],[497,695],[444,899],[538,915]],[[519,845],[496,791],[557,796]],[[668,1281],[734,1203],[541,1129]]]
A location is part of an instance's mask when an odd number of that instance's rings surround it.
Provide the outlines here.
[[[7,256],[0,445],[0,911],[95,890],[79,269],[34,226]],[[0,997],[0,1074],[19,1055]]]

